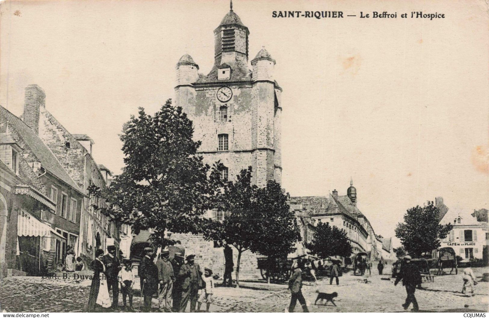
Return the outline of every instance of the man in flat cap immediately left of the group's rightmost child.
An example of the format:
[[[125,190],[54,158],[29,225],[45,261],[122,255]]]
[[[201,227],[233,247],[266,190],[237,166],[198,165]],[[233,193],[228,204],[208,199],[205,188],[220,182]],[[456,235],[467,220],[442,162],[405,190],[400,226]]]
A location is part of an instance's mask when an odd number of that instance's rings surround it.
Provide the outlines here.
[[[202,287],[202,272],[199,264],[194,261],[195,255],[186,257],[187,264],[184,264],[178,275],[182,278],[182,300],[180,304],[180,312],[185,312],[187,303],[190,299],[190,312],[195,313],[197,299],[199,298],[199,288]]]

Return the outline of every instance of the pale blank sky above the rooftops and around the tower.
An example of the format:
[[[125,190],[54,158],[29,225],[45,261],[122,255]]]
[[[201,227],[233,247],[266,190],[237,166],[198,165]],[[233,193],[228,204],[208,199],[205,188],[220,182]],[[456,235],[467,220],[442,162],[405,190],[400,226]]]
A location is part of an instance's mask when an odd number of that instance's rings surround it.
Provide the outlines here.
[[[384,237],[406,209],[438,196],[489,208],[483,0],[235,0],[233,9],[250,30],[249,59],[265,46],[276,60],[291,196],[346,195],[353,178],[358,208]],[[272,18],[280,10],[357,16]],[[46,109],[89,135],[94,159],[119,173],[122,124],[174,96],[181,55],[210,71],[213,30],[228,11],[227,0],[3,1],[0,104],[21,115],[24,88],[38,84]],[[400,18],[412,11],[445,19]]]

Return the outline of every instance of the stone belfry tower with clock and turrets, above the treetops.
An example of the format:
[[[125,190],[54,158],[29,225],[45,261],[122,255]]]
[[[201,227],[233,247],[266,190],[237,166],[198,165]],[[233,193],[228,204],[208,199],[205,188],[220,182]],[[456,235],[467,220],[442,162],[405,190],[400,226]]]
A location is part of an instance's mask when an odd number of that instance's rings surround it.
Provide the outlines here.
[[[212,165],[221,160],[222,178],[234,180],[253,168],[253,182],[281,182],[281,92],[274,79],[275,60],[265,48],[248,62],[249,30],[233,11],[214,30],[214,66],[199,73],[194,59],[177,63],[175,105],[194,123],[199,154]],[[249,64],[251,68],[249,69]]]

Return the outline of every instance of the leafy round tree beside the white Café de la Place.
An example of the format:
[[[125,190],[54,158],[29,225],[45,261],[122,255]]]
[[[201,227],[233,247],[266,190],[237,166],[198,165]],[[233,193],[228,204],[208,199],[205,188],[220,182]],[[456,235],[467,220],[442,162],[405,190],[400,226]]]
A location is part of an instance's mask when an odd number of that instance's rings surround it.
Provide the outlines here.
[[[415,257],[422,253],[431,253],[440,247],[440,239],[444,239],[453,228],[449,223],[440,225],[438,222],[438,208],[428,201],[424,206],[415,206],[404,214],[404,223],[396,227],[396,237],[404,249]]]

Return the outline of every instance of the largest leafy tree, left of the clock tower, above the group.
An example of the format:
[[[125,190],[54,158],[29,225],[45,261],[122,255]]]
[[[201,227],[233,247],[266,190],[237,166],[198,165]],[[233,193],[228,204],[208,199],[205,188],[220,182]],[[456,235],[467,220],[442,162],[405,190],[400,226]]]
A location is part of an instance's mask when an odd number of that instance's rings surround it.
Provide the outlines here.
[[[166,231],[201,233],[206,224],[202,215],[212,208],[222,186],[222,165],[211,169],[203,164],[193,132],[192,121],[181,107],[172,106],[171,99],[154,115],[139,108],[120,135],[123,172],[103,193],[89,189],[110,203],[102,212],[131,224],[136,233],[152,228],[158,246],[175,244],[165,238]]]

